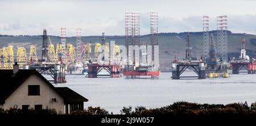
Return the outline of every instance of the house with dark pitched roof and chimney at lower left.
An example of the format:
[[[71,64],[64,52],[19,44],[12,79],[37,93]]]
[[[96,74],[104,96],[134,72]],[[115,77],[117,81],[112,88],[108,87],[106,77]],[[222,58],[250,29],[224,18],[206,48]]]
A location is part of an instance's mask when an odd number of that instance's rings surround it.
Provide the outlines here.
[[[84,98],[68,87],[54,87],[36,70],[0,70],[0,108],[54,108],[59,114],[84,110]]]

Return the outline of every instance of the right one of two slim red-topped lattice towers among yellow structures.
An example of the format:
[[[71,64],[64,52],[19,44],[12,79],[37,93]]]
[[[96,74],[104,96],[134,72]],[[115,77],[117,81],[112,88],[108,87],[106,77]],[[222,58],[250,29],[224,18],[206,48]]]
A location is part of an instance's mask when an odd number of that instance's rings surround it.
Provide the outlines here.
[[[81,40],[81,28],[76,29],[76,62],[82,62],[84,47]]]

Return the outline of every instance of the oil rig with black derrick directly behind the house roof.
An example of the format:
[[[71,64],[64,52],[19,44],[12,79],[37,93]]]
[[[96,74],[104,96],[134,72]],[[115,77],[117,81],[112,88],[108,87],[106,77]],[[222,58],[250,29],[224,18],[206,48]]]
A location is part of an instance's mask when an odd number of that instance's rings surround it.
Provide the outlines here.
[[[30,48],[30,62],[26,65],[26,69],[35,69],[40,74],[51,75],[54,83],[67,82],[65,79],[66,65],[62,61],[56,61],[54,55],[54,47],[46,29],[43,30],[42,57],[38,60],[34,45]],[[49,45],[48,45],[49,40]],[[26,52],[26,51],[25,51]],[[62,53],[61,53],[62,54]],[[19,55],[17,55],[19,56]],[[57,56],[62,57],[62,56]],[[61,58],[60,58],[61,59]]]

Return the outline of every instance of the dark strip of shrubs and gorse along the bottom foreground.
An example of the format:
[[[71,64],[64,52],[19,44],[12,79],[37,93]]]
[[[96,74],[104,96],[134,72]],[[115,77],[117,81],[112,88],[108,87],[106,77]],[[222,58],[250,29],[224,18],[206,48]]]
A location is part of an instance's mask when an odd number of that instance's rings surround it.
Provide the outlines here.
[[[112,115],[109,111],[100,107],[88,107],[83,111],[73,111],[71,115]],[[169,106],[161,108],[149,108],[146,107],[123,107],[120,111],[121,115],[256,115],[256,103],[252,103],[251,106],[247,106],[247,103],[232,103],[232,104],[199,104],[190,102],[175,102]],[[12,115],[57,115],[54,109],[43,110],[20,110],[16,108],[10,108],[9,110],[0,109],[0,115],[12,116]]]

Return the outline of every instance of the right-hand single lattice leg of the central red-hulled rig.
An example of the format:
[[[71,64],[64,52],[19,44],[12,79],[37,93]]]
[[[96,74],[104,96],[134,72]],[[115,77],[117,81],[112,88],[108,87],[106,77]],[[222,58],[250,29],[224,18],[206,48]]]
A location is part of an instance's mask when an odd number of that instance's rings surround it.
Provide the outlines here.
[[[155,45],[158,45],[158,12],[150,12],[150,29],[151,29],[150,39],[151,39],[151,45],[152,45],[152,61],[154,62],[154,64],[159,65],[159,59],[158,59],[159,48],[157,46],[155,47]]]

